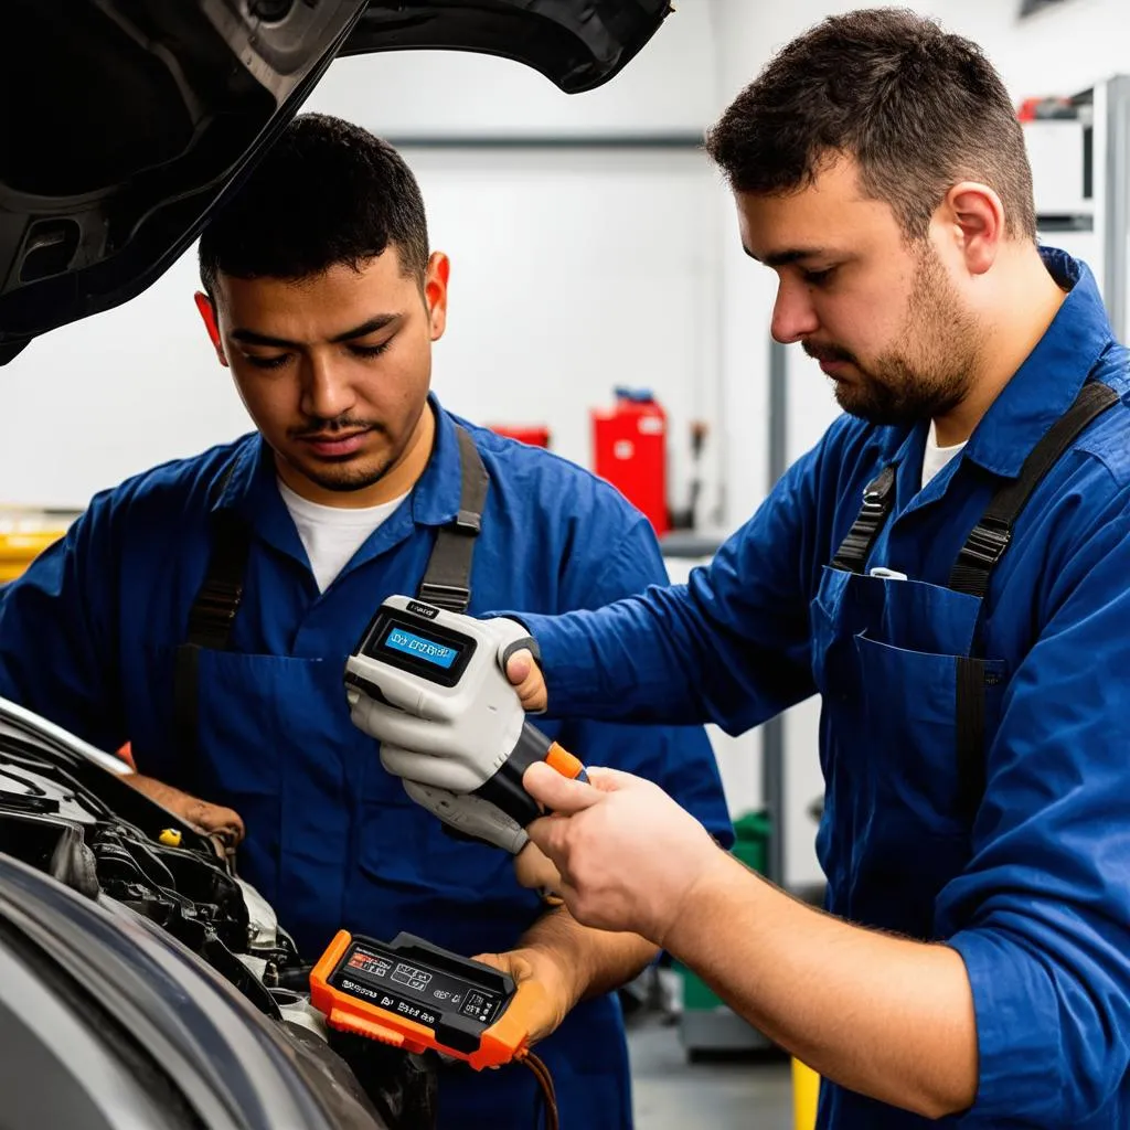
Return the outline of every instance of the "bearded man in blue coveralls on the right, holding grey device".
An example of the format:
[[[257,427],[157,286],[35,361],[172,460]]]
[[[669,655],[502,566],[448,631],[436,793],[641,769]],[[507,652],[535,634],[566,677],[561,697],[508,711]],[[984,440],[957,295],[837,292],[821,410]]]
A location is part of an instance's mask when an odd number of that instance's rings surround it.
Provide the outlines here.
[[[545,678],[512,678],[731,732],[819,693],[832,916],[632,776],[531,767],[558,814],[531,835],[581,921],[663,945],[832,1081],[822,1127],[1125,1130],[1127,351],[1088,269],[1037,247],[1002,84],[927,20],[818,25],[709,149],[773,334],[846,414],[687,585],[521,617]]]

